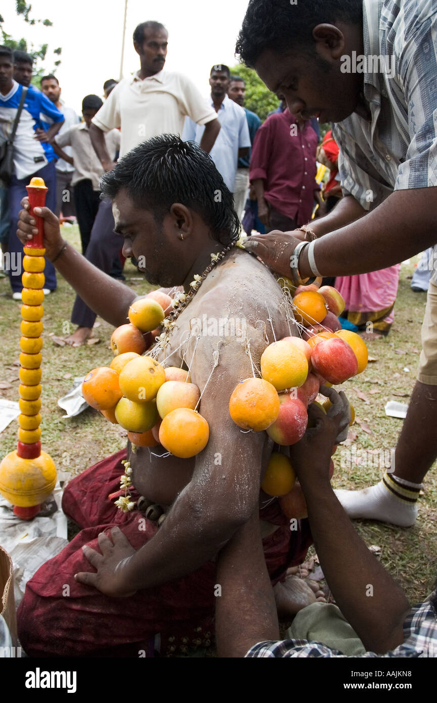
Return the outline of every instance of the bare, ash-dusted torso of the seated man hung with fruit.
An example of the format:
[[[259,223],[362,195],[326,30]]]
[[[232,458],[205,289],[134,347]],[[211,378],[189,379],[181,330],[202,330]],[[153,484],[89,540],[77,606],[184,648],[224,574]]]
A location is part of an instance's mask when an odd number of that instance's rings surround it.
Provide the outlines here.
[[[215,403],[220,399],[221,406],[227,407],[235,385],[252,375],[246,340],[254,368],[259,369],[263,349],[268,342],[275,341],[268,321],[269,313],[277,340],[290,333],[296,334],[293,321],[287,323],[287,310],[292,318],[291,307],[287,306],[280,285],[270,271],[254,257],[235,249],[209,273],[192,302],[178,317],[176,328],[169,336],[169,347],[157,356],[157,360],[165,362],[166,366],[189,366],[192,382],[202,392],[214,367],[214,351],[218,351],[218,367],[204,390],[200,413],[209,422],[211,437],[221,446],[219,453],[222,460],[225,452],[228,459],[234,456],[237,460],[241,430],[234,425],[228,413],[227,425],[215,437],[214,415],[217,409],[209,416],[208,399],[214,399]],[[227,320],[229,324],[223,324]],[[199,322],[202,324],[200,329]],[[242,335],[226,336],[227,332],[233,333],[234,328]],[[216,330],[218,334],[215,336]],[[267,435],[252,435],[253,440],[259,443],[261,459],[262,445],[267,444]],[[129,444],[128,453],[133,468],[133,485],[138,493],[160,505],[173,503],[190,482],[195,468],[195,457],[178,459],[166,456],[167,452],[161,446],[152,449],[138,447],[133,453]],[[269,454],[264,456],[264,460],[268,458]]]

